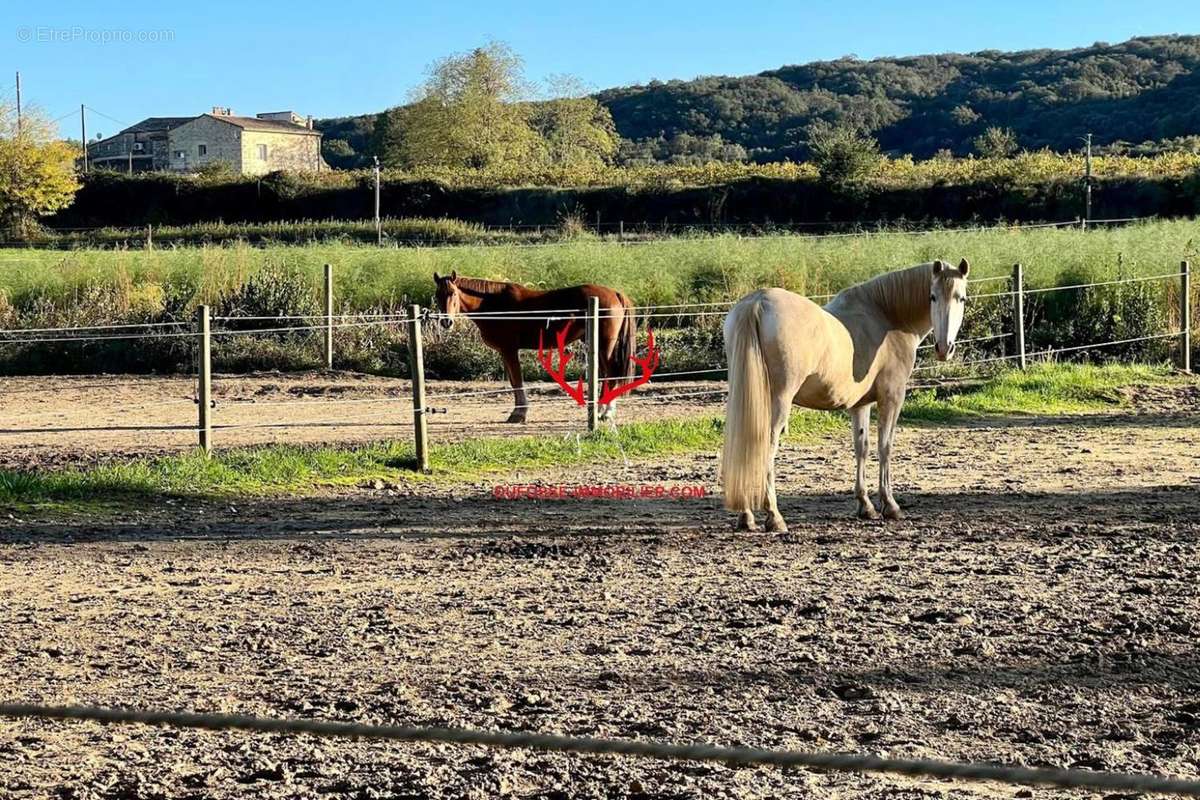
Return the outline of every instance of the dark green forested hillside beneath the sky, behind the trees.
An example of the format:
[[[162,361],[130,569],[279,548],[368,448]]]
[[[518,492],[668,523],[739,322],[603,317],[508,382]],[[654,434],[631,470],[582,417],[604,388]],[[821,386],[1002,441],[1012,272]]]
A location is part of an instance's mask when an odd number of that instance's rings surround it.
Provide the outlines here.
[[[652,82],[596,95],[624,163],[803,160],[814,131],[854,127],[893,155],[966,155],[990,127],[1021,149],[1200,139],[1200,36],[1073,50],[922,55],[786,66],[749,77]],[[331,163],[370,160],[376,115],[323,120]],[[1183,139],[1182,142],[1170,142]],[[336,152],[335,152],[336,151]]]

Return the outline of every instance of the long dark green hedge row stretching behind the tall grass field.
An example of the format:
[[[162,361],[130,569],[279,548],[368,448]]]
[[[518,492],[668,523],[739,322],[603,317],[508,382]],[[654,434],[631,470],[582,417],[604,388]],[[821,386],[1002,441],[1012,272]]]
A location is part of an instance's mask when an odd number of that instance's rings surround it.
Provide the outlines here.
[[[50,227],[139,227],[288,219],[370,219],[370,180],[295,175],[200,180],[170,174],[98,173]],[[851,190],[814,179],[749,178],[708,186],[454,188],[428,180],[385,182],[386,217],[456,218],[488,225],[798,224],[1062,221],[1082,213],[1079,180],[978,180]],[[1180,217],[1200,213],[1200,175],[1108,176],[1096,180],[1093,216]]]

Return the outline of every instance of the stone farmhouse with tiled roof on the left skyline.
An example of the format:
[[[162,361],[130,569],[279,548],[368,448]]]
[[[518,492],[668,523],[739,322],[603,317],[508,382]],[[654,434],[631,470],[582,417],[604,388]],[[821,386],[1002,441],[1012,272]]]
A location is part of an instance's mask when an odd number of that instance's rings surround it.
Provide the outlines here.
[[[294,112],[236,116],[214,108],[199,116],[151,116],[115,136],[88,144],[95,168],[118,172],[192,173],[226,163],[242,175],[320,172],[320,132]]]

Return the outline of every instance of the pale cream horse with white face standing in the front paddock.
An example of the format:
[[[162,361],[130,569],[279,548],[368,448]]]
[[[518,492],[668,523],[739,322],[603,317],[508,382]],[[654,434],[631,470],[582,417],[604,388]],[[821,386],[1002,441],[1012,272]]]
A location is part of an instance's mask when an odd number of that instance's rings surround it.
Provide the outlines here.
[[[775,500],[775,456],[792,405],[850,411],[854,439],[858,516],[877,519],[866,494],[871,404],[878,404],[880,503],[899,519],[892,495],[892,437],[917,345],[934,331],[938,360],[954,354],[967,296],[966,259],[887,272],[851,287],[824,307],[785,289],[760,289],[725,318],[730,396],[721,482],[725,507],[738,529],[755,530],[754,511],[767,511],[767,530],[787,524]]]

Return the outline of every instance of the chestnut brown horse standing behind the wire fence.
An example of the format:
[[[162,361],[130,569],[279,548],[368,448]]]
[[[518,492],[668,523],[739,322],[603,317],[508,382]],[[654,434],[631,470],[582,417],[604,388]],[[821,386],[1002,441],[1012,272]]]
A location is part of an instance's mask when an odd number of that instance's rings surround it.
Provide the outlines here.
[[[524,422],[529,402],[521,378],[521,350],[536,350],[539,342],[546,350],[565,347],[583,337],[588,297],[600,301],[600,378],[608,386],[632,378],[631,356],[637,347],[637,323],[634,305],[620,291],[608,287],[584,284],[565,289],[530,289],[520,283],[485,281],[433,273],[437,283],[437,303],[443,327],[452,327],[455,317],[468,314],[479,327],[484,343],[500,354],[504,372],[512,385],[514,408],[509,422]],[[552,319],[562,314],[563,319]],[[562,357],[562,356],[559,356]],[[616,402],[600,407],[600,419],[616,415]]]

